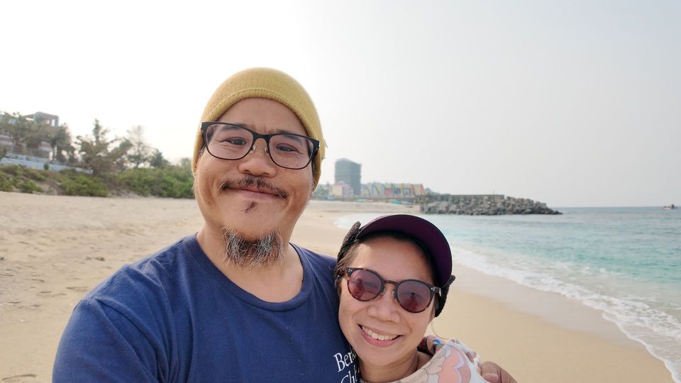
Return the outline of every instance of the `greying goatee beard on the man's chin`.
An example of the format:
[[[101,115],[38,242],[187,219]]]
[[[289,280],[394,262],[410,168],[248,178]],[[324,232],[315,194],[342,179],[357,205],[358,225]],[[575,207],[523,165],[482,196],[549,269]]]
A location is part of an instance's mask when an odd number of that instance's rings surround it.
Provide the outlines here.
[[[223,261],[227,265],[253,270],[279,263],[284,257],[284,246],[279,233],[264,233],[259,238],[247,239],[231,228],[222,229],[225,242]]]

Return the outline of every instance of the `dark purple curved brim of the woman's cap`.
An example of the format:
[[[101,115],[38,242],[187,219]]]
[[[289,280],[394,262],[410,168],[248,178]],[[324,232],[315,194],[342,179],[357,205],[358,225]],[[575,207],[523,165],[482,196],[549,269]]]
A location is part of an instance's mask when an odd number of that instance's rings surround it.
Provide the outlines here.
[[[360,228],[357,238],[379,231],[397,231],[419,240],[426,247],[435,269],[437,286],[443,287],[452,275],[452,250],[445,235],[430,221],[409,214],[380,216]]]

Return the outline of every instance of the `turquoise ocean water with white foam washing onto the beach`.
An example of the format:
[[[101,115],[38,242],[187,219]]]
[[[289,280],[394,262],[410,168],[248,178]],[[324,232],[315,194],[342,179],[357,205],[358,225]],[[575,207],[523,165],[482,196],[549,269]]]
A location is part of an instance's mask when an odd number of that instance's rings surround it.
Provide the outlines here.
[[[423,218],[443,231],[455,262],[601,311],[681,383],[681,209],[558,210],[563,215]]]

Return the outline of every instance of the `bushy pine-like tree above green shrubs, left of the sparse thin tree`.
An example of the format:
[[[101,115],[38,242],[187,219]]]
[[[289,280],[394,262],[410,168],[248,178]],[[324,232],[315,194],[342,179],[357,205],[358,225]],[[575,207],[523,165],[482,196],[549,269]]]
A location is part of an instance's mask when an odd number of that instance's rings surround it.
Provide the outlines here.
[[[109,129],[95,120],[92,138],[87,135],[77,137],[76,144],[79,146],[82,165],[92,170],[96,177],[126,169],[126,155],[132,144],[126,139],[109,139],[106,137],[108,134]]]

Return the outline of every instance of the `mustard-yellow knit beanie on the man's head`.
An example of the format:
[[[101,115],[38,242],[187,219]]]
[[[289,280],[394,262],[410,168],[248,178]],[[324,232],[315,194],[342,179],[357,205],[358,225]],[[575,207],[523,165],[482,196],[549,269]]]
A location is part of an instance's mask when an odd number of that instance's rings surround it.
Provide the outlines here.
[[[314,164],[314,186],[319,182],[321,160],[324,158],[326,141],[321,133],[321,123],[312,99],[293,77],[270,68],[251,68],[234,74],[223,82],[206,104],[201,121],[216,121],[232,105],[243,99],[260,97],[272,99],[291,109],[303,124],[309,137],[319,140],[319,151],[312,159]],[[192,171],[196,173],[199,152],[204,148],[201,127],[196,131]]]

